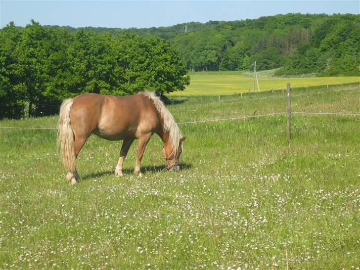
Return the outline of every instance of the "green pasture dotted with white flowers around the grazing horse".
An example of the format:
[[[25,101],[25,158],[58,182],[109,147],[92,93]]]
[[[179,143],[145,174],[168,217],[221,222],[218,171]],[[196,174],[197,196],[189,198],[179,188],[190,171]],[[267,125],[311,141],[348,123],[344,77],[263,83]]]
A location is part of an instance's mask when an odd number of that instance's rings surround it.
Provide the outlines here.
[[[281,91],[175,98],[180,122],[285,111]],[[293,111],[360,114],[359,84],[293,89]],[[57,117],[0,121],[54,127]],[[284,115],[180,124],[179,173],[162,142],[90,136],[70,186],[56,130],[0,129],[0,269],[359,269],[360,116]]]

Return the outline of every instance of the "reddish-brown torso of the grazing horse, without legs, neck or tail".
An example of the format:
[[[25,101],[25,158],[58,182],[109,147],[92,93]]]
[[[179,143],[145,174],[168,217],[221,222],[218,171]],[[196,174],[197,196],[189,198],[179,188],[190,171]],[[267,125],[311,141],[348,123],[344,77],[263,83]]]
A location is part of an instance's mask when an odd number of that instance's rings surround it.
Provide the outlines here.
[[[74,133],[89,136],[94,133],[106,139],[139,137],[158,125],[156,109],[143,94],[111,96],[95,93],[74,98],[71,122]]]

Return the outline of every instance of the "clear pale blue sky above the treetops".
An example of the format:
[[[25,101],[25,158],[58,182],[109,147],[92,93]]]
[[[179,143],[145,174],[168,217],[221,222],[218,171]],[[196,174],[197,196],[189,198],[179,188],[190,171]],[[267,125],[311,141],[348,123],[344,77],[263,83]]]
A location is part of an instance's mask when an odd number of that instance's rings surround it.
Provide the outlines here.
[[[286,13],[360,13],[360,0],[0,0],[0,28],[25,26],[150,28],[234,21]]]

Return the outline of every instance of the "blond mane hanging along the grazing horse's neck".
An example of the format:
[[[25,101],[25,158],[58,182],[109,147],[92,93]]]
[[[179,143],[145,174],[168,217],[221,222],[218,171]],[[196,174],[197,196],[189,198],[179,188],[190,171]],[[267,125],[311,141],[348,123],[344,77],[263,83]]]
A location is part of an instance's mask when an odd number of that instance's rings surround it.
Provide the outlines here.
[[[155,92],[144,91],[142,93],[152,100],[157,111],[161,115],[164,121],[163,130],[164,132],[169,132],[170,142],[173,146],[174,154],[177,156],[179,151],[179,141],[182,135],[177,123],[175,122],[174,117],[165,107],[164,103],[160,100],[160,98],[155,94]]]

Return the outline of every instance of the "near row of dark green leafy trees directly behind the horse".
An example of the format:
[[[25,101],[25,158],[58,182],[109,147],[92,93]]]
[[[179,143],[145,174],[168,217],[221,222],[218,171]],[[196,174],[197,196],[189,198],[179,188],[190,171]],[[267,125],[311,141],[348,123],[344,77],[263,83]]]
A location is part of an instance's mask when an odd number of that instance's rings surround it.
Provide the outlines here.
[[[0,119],[49,115],[64,98],[84,92],[158,94],[184,90],[186,68],[166,40],[131,33],[26,27],[0,30]]]

